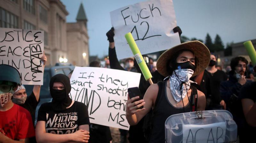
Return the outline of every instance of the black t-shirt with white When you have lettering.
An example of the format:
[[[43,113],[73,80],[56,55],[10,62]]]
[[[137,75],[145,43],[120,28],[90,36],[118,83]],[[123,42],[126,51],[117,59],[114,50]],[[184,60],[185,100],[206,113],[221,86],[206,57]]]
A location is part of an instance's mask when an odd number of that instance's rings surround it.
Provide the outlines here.
[[[75,101],[63,111],[54,111],[51,102],[41,105],[38,111],[38,121],[45,121],[47,133],[68,134],[78,130],[78,126],[90,124],[87,107],[84,103]]]

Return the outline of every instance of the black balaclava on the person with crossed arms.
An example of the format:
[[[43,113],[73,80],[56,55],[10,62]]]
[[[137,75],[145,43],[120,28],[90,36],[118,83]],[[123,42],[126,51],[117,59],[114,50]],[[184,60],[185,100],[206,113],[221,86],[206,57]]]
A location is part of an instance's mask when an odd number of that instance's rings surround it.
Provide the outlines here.
[[[52,89],[54,82],[61,82],[65,89],[58,90]],[[64,74],[56,74],[50,81],[50,93],[52,96],[52,109],[55,111],[63,111],[72,103],[72,99],[69,97],[71,91],[71,85],[69,78]]]

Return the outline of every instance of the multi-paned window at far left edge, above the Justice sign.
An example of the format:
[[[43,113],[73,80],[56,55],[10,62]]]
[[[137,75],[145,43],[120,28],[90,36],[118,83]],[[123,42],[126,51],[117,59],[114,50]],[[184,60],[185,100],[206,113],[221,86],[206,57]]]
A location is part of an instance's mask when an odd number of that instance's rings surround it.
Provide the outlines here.
[[[0,7],[0,27],[18,28],[18,17]]]

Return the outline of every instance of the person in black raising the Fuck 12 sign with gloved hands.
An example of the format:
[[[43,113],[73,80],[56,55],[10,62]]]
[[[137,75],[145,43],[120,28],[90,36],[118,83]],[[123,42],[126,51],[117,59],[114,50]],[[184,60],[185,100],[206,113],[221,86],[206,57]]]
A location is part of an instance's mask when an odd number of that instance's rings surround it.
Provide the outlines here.
[[[174,33],[179,32],[179,35],[181,35],[182,31],[179,26],[173,28]],[[116,56],[116,48],[115,48],[115,42],[114,42],[114,28],[112,27],[108,32],[107,32],[107,37],[109,41],[109,48],[108,48],[108,58],[109,58],[109,64],[111,69],[116,69],[116,70],[125,70],[120,63],[118,62],[117,56]],[[147,55],[142,55],[146,64],[148,65],[148,68],[150,68],[150,61]],[[144,94],[146,93],[148,87],[150,86],[149,82],[145,80],[139,65],[137,64],[136,60],[134,59],[134,67],[135,70],[132,70],[131,72],[138,72],[141,73],[140,76],[140,84],[139,84],[139,89],[140,89],[140,94],[143,97]],[[163,81],[164,76],[162,76],[157,70],[152,74],[152,81],[153,83],[157,83],[158,81]],[[136,125],[130,126],[129,129],[129,137],[128,140],[133,143],[133,142],[140,142],[140,143],[147,143],[147,139],[144,137],[143,133],[143,124],[144,124],[144,118],[140,120],[140,122]],[[125,133],[121,131],[121,142],[123,141],[122,137],[125,136]],[[125,140],[125,139],[124,139]],[[125,141],[124,141],[125,142]]]

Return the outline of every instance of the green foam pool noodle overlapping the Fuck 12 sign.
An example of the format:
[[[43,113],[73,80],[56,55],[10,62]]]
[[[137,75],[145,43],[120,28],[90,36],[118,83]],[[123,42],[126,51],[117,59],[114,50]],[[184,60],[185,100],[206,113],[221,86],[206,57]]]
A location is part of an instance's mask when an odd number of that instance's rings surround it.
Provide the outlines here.
[[[146,80],[151,79],[152,75],[151,75],[150,71],[148,70],[148,66],[147,66],[146,62],[144,61],[144,59],[140,53],[140,50],[132,37],[131,32],[125,34],[124,37],[126,38],[126,41],[128,42],[138,65],[140,66],[140,70],[143,73],[144,78]]]

